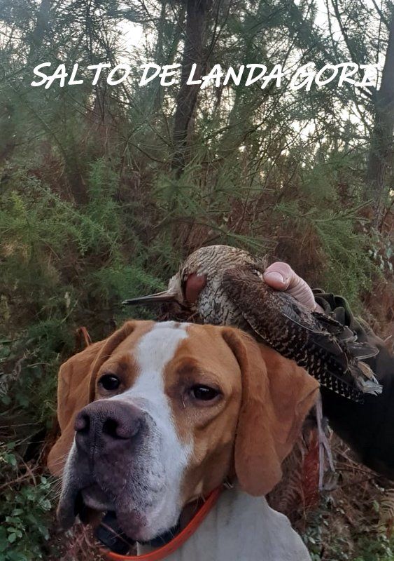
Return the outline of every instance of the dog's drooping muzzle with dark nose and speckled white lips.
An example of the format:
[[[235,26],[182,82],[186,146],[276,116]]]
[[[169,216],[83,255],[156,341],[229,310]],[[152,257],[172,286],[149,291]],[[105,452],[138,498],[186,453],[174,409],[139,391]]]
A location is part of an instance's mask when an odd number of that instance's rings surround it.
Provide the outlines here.
[[[115,511],[123,531],[137,539],[146,526],[147,508],[164,486],[162,466],[152,468],[150,461],[160,446],[153,419],[132,403],[97,400],[78,413],[75,431],[58,508],[60,524],[73,524],[82,496],[87,507]]]

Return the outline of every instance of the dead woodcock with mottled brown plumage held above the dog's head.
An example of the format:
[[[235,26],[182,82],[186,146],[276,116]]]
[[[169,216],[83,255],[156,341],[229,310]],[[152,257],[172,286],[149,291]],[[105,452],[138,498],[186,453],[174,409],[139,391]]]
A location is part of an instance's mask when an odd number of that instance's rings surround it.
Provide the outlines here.
[[[349,327],[334,318],[309,311],[288,293],[270,288],[262,276],[266,266],[265,259],[244,250],[210,245],[185,259],[168,290],[123,304],[178,302],[197,311],[203,323],[232,325],[252,334],[341,396],[361,401],[363,393],[381,393],[374,373],[363,363],[377,349],[357,342]],[[196,275],[205,277],[205,285],[195,302],[188,302],[188,282]]]

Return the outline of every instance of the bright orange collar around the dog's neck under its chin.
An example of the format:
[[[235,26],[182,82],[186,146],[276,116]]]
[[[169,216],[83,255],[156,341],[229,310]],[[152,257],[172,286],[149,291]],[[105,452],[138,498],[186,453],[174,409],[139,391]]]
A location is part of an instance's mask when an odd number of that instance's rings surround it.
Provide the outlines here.
[[[161,561],[162,559],[165,559],[168,555],[174,553],[174,551],[183,546],[183,543],[185,543],[185,541],[188,541],[190,536],[195,533],[199,525],[202,524],[204,518],[206,518],[206,516],[212,510],[213,506],[215,506],[216,501],[218,501],[218,498],[223,491],[223,487],[224,485],[220,485],[219,487],[216,487],[216,489],[213,489],[213,491],[206,497],[204,503],[202,503],[202,506],[200,506],[197,513],[195,513],[193,518],[190,520],[188,525],[186,525],[183,530],[179,532],[179,534],[176,534],[174,539],[171,539],[171,541],[166,543],[164,546],[143,555],[119,555],[118,553],[113,553],[113,551],[106,551],[104,553],[106,559],[111,561]]]

